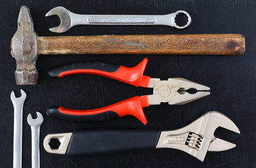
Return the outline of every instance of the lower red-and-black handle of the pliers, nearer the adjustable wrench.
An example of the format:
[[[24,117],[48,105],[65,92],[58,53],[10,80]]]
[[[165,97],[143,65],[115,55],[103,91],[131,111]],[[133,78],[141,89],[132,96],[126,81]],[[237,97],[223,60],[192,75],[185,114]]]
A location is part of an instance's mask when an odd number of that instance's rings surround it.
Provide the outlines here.
[[[146,125],[147,119],[142,110],[142,108],[146,106],[149,106],[147,96],[136,96],[100,109],[72,110],[63,107],[53,107],[47,109],[46,113],[53,118],[81,123],[110,120],[123,116],[134,116]]]

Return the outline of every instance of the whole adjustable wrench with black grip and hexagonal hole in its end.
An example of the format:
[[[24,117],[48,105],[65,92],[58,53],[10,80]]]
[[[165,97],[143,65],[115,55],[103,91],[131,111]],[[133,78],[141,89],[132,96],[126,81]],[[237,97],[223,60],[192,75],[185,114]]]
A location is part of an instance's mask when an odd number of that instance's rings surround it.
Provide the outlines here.
[[[211,111],[178,130],[75,130],[73,133],[48,134],[43,147],[48,153],[70,156],[174,148],[203,162],[207,151],[226,151],[236,147],[236,144],[214,136],[217,127],[240,134],[227,116]],[[60,146],[53,149],[51,141],[54,140],[58,140]]]

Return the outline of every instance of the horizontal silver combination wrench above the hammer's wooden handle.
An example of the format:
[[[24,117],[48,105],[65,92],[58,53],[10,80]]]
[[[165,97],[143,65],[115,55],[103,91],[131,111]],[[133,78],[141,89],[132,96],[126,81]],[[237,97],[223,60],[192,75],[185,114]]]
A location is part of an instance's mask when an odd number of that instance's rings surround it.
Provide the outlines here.
[[[187,22],[183,26],[175,22],[176,16],[180,14],[187,16]],[[51,15],[60,17],[60,26],[49,29],[55,33],[63,33],[76,25],[165,25],[184,29],[191,23],[189,13],[184,10],[168,15],[79,15],[58,6],[46,13],[46,17]]]

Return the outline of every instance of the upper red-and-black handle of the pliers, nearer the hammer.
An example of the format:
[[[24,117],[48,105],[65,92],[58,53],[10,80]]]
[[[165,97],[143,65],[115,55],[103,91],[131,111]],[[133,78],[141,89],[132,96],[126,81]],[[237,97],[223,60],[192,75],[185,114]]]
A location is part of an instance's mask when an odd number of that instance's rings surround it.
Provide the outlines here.
[[[48,75],[62,78],[67,75],[88,73],[106,76],[137,87],[147,87],[150,77],[143,75],[146,65],[147,58],[144,58],[140,64],[134,67],[107,64],[105,62],[74,62],[49,69]]]

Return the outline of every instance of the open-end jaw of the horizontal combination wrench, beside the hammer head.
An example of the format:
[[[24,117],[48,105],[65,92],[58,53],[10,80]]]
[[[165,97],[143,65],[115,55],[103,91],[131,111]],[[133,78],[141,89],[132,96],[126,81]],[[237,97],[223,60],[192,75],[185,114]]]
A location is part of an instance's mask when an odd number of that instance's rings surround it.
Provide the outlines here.
[[[53,8],[52,10],[46,13],[46,17],[51,15],[58,15],[60,18],[60,25],[58,27],[52,27],[49,30],[54,33],[63,33],[71,28],[71,17],[69,14],[69,10],[62,6],[58,6]]]

